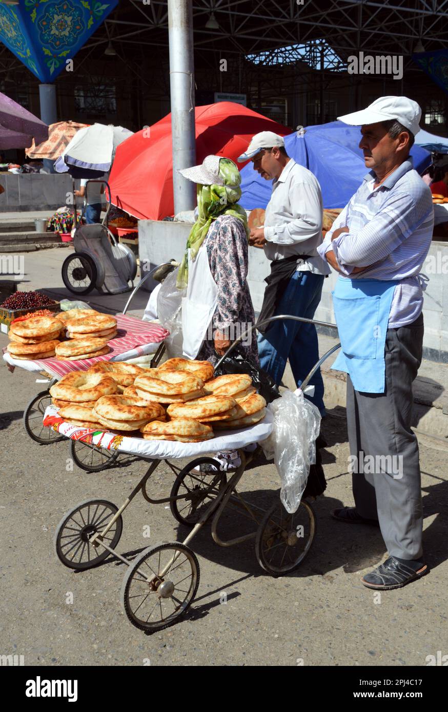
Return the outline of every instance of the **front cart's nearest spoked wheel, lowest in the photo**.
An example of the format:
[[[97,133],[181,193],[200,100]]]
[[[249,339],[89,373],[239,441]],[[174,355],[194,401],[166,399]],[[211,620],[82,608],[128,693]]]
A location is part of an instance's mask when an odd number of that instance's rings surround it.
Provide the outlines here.
[[[130,565],[121,587],[121,602],[132,625],[155,632],[182,616],[198,586],[199,562],[192,550],[177,542],[157,544]]]

